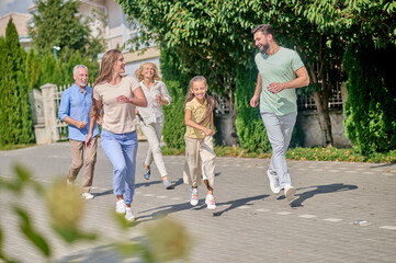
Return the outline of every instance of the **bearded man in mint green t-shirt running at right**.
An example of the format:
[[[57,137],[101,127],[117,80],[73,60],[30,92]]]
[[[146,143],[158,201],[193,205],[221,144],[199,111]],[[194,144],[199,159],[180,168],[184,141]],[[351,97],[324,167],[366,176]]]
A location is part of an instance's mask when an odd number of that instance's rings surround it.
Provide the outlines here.
[[[261,24],[252,30],[256,46],[260,48],[254,57],[259,75],[250,105],[256,107],[260,100],[260,114],[272,147],[272,157],[267,175],[274,194],[284,190],[287,201],[294,198],[286,151],[297,116],[296,88],[309,83],[309,77],[298,54],[276,43],[273,27]]]

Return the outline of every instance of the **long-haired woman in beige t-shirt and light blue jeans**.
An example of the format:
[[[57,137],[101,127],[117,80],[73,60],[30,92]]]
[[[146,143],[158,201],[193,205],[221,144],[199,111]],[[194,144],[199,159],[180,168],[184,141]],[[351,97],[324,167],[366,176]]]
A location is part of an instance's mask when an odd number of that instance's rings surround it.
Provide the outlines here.
[[[91,123],[86,145],[90,146],[93,125],[103,114],[101,145],[113,164],[115,210],[125,214],[126,220],[134,221],[131,203],[135,192],[137,153],[135,107],[147,106],[147,100],[137,80],[124,77],[124,73],[122,53],[117,49],[108,50],[93,84]]]

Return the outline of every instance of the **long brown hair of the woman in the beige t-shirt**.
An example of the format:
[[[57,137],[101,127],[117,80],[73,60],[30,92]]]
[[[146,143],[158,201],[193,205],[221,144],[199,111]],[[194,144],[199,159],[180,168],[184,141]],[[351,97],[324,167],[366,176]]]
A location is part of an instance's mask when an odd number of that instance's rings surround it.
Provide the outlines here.
[[[110,49],[102,57],[99,77],[95,79],[92,87],[92,107],[90,116],[98,117],[100,115],[97,107],[97,100],[93,98],[93,90],[98,84],[110,82],[112,80],[114,76],[114,65],[117,61],[120,55],[122,55],[122,53],[118,49]]]

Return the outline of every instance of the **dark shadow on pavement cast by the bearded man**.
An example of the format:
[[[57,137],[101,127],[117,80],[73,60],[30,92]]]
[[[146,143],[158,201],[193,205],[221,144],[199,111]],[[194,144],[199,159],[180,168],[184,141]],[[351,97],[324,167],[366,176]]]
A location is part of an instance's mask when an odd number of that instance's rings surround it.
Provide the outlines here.
[[[307,191],[304,192],[302,194],[296,194],[296,196],[298,196],[298,198],[294,199],[290,205],[291,207],[298,207],[298,206],[304,206],[303,203],[304,201],[314,197],[315,195],[318,194],[328,194],[328,193],[335,193],[335,192],[341,192],[341,191],[350,191],[350,190],[357,190],[358,186],[357,185],[351,185],[351,184],[343,184],[343,183],[337,183],[337,184],[328,184],[328,185],[315,185],[315,186],[309,186],[309,187],[303,187],[303,188],[297,188],[298,191],[305,190],[305,188],[313,188],[316,187],[315,190],[312,191]],[[284,196],[279,197],[278,199],[284,199]]]

